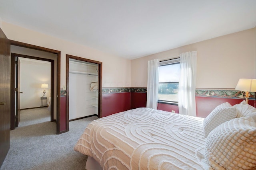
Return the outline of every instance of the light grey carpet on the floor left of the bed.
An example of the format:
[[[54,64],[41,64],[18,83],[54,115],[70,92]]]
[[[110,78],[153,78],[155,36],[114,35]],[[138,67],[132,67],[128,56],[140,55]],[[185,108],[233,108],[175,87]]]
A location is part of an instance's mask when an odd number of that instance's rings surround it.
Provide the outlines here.
[[[22,110],[19,126],[10,131],[10,150],[0,170],[84,170],[87,156],[73,150],[92,120],[69,123],[67,133],[56,135],[46,108]]]

